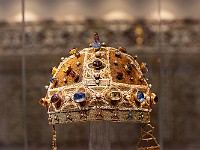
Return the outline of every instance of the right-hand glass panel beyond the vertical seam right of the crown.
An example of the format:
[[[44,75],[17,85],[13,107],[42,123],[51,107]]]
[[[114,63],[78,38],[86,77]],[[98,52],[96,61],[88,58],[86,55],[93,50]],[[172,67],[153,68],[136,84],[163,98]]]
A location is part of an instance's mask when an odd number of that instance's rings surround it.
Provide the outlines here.
[[[195,119],[199,114],[199,4],[198,0],[161,1],[160,109],[165,149],[199,149]]]

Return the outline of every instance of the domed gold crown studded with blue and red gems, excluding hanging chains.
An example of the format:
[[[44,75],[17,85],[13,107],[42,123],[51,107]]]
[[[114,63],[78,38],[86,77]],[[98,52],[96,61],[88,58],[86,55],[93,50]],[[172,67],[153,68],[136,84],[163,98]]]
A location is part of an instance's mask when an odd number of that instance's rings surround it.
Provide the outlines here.
[[[70,51],[52,68],[47,94],[40,100],[49,114],[49,124],[80,121],[149,123],[152,104],[158,100],[144,76],[146,63],[99,42]],[[55,129],[55,128],[54,128]]]

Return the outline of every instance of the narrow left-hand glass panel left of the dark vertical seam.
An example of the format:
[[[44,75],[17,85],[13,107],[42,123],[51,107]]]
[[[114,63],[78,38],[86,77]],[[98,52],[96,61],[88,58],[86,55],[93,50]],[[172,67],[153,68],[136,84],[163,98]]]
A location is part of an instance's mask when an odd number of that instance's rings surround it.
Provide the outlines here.
[[[24,148],[21,0],[0,0],[0,149]]]

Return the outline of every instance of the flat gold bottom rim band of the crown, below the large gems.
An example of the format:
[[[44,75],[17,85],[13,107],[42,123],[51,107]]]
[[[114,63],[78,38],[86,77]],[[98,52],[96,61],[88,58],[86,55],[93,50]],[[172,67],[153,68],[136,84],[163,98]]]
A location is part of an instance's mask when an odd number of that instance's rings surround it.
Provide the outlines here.
[[[63,113],[49,113],[49,124],[72,123],[81,121],[112,121],[112,122],[139,122],[149,123],[150,114],[138,110],[102,110],[91,109],[82,111],[69,111]]]

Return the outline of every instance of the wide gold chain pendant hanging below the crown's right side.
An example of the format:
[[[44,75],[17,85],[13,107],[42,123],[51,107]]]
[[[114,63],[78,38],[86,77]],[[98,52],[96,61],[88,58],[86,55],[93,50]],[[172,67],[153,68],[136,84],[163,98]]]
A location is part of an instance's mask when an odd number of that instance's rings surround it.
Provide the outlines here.
[[[154,127],[146,124],[141,128],[141,138],[137,144],[137,150],[160,150],[156,138],[153,136]]]

